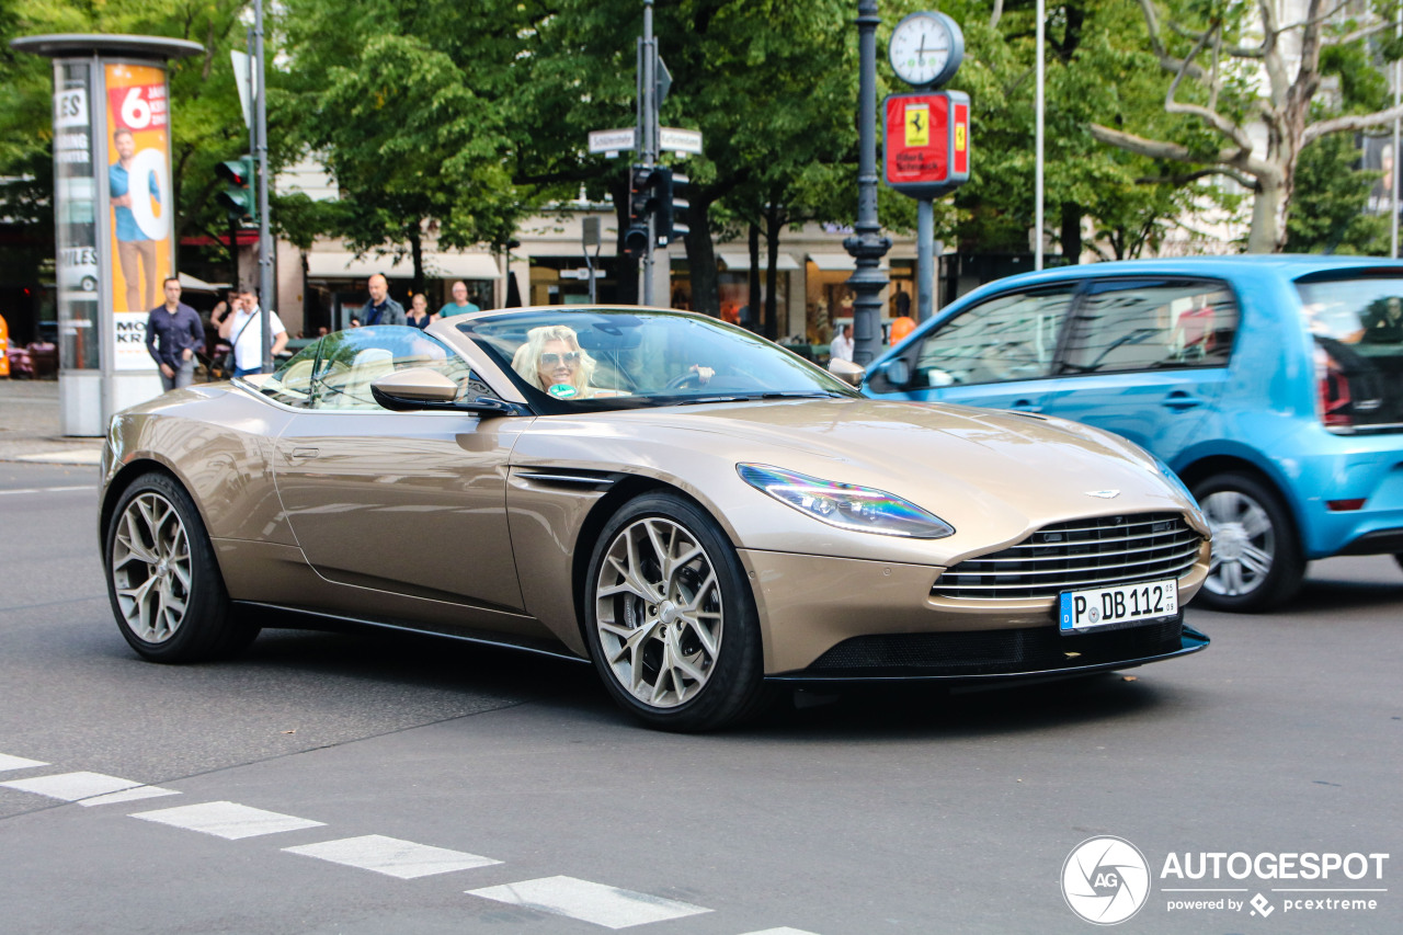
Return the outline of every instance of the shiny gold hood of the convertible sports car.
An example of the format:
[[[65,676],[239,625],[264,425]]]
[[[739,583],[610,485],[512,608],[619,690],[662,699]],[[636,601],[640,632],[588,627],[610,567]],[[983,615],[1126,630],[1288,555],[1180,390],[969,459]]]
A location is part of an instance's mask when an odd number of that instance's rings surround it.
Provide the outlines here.
[[[707,459],[877,487],[957,531],[998,529],[1010,542],[1059,519],[1155,511],[1187,511],[1208,533],[1187,491],[1150,455],[1118,435],[1058,418],[867,399],[723,403],[607,418],[658,444],[686,432],[690,438],[678,444]],[[697,432],[714,442],[700,442]]]

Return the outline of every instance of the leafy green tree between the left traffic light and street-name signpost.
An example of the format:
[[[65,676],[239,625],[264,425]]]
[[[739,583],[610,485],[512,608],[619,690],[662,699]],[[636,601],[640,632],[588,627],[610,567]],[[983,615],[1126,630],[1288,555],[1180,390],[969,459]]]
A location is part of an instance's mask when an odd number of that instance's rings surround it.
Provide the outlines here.
[[[508,125],[522,4],[290,0],[281,119],[341,190],[323,220],[361,253],[505,244],[530,211]],[[272,100],[272,98],[271,98]],[[316,218],[313,218],[316,220]],[[398,258],[398,257],[396,257]]]

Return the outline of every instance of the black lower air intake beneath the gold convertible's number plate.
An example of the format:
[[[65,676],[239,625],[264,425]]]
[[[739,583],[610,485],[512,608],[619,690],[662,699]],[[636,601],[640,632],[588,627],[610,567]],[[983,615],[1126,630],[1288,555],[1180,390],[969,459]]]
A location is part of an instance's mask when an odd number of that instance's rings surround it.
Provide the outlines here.
[[[854,636],[819,656],[808,671],[825,677],[1044,672],[1173,653],[1183,646],[1183,621],[1173,619],[1076,636],[1062,636],[1055,626]]]

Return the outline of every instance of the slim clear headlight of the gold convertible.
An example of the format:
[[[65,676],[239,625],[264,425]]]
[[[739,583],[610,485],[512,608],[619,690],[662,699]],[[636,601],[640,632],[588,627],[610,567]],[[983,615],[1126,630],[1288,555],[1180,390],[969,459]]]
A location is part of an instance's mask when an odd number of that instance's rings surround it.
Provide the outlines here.
[[[756,490],[839,529],[912,539],[943,539],[954,533],[954,528],[940,517],[885,490],[842,484],[769,465],[737,465],[735,470]]]

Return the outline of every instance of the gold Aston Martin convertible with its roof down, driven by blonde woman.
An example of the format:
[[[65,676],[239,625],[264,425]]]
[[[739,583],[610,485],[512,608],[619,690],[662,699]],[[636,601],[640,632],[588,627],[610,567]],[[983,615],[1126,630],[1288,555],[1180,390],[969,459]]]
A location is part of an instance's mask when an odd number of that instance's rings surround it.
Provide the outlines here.
[[[143,657],[297,611],[592,660],[645,723],[783,682],[1047,678],[1193,653],[1208,525],[1100,430],[863,399],[714,319],[340,331],[112,420],[101,543]]]

